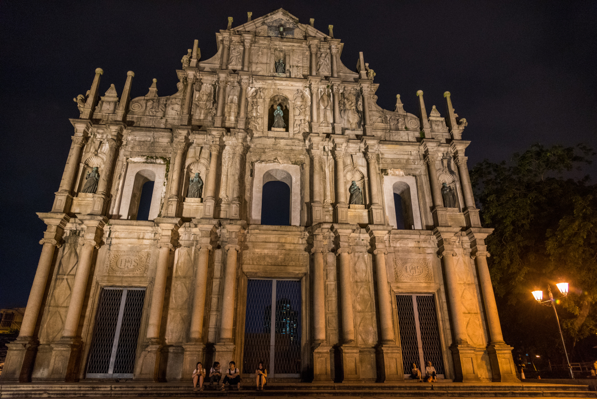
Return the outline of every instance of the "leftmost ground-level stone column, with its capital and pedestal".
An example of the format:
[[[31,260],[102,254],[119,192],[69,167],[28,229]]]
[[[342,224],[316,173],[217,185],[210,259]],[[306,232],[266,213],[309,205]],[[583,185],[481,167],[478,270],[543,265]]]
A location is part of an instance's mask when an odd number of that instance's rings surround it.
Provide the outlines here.
[[[38,323],[39,311],[44,300],[48,277],[54,260],[54,251],[60,247],[61,237],[70,217],[66,214],[38,213],[48,228],[39,244],[44,245],[39,256],[38,268],[35,271],[33,285],[27,300],[27,308],[23,316],[23,323],[19,337],[8,343],[8,354],[0,380],[2,382],[29,382],[33,367],[33,360],[38,346],[35,327]]]

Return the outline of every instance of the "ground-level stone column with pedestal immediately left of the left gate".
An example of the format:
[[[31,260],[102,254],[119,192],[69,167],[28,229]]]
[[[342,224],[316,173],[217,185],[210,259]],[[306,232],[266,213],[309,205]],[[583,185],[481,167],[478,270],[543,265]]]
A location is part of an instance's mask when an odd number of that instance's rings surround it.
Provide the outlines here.
[[[89,283],[89,273],[93,265],[93,254],[99,248],[103,226],[107,219],[103,216],[81,216],[85,233],[79,245],[79,262],[76,266],[75,281],[70,292],[69,308],[66,312],[64,327],[60,340],[51,344],[52,355],[48,379],[57,381],[74,381],[78,379],[78,358],[81,351],[79,322],[84,305],[85,291]]]

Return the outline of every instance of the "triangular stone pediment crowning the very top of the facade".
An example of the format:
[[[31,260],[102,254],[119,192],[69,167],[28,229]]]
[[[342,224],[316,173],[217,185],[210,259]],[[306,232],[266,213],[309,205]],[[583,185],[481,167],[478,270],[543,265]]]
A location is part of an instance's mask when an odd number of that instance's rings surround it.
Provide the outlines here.
[[[298,18],[283,8],[234,28],[237,32],[255,32],[257,36],[303,39],[306,36],[329,38],[309,24],[298,22]]]

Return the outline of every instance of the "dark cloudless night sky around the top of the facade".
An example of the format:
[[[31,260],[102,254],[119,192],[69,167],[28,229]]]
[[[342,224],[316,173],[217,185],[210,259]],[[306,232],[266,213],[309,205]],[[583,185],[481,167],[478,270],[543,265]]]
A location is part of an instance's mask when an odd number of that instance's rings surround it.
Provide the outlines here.
[[[522,4],[524,3],[524,4]],[[448,90],[469,126],[469,167],[500,161],[532,143],[597,147],[597,2],[269,2],[121,1],[0,3],[2,117],[0,307],[24,306],[50,211],[85,94],[96,67],[100,95],[119,95],[133,70],[131,97],[158,79],[176,93],[180,59],[199,39],[202,59],[216,52],[215,32],[280,7],[344,43],[353,69],[358,52],[377,73],[378,104],[401,94],[418,114],[416,91],[445,112]],[[596,167],[587,172],[595,175]]]

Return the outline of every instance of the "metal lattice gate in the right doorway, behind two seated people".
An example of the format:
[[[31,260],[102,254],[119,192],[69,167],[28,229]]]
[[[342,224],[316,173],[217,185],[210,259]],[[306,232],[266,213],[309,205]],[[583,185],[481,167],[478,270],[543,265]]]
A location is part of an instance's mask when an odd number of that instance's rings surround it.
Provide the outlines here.
[[[433,295],[396,295],[396,302],[404,375],[410,376],[414,363],[424,376],[425,364],[431,361],[438,377],[443,378],[444,358]]]

